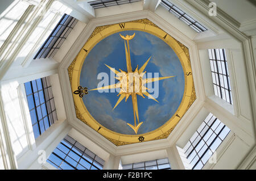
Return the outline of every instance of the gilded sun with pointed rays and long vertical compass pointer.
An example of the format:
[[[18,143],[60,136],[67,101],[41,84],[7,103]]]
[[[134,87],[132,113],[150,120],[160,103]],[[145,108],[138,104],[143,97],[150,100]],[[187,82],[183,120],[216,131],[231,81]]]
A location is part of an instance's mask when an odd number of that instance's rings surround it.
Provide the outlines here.
[[[144,63],[144,65],[139,70],[138,70],[138,65],[137,65],[137,68],[133,71],[133,69],[131,68],[129,40],[132,40],[134,38],[135,33],[133,35],[126,35],[126,36],[123,36],[121,34],[119,34],[119,35],[121,36],[121,38],[123,40],[126,41],[125,42],[125,56],[126,56],[127,71],[123,71],[121,69],[119,69],[120,71],[117,71],[114,68],[111,68],[110,66],[105,64],[106,66],[108,66],[108,68],[111,71],[113,71],[117,75],[117,77],[115,77],[115,79],[118,79],[119,82],[115,83],[113,85],[92,89],[90,91],[119,88],[120,91],[119,91],[119,94],[117,95],[117,96],[119,96],[119,99],[117,100],[117,103],[115,104],[114,108],[117,107],[118,104],[123,99],[125,99],[125,101],[127,101],[129,96],[131,95],[131,99],[133,100],[134,125],[131,125],[129,123],[127,123],[127,125],[129,125],[134,130],[135,134],[137,134],[139,127],[143,123],[143,122],[141,122],[141,123],[139,122],[137,95],[140,95],[143,98],[145,98],[143,95],[146,95],[146,96],[148,96],[148,98],[154,99],[156,102],[158,102],[158,100],[156,100],[152,95],[150,95],[146,91],[147,87],[144,85],[146,83],[160,81],[162,79],[167,79],[167,78],[171,78],[171,77],[175,77],[175,76],[159,77],[159,78],[144,78],[143,79],[143,75],[146,73],[146,71],[144,71],[144,69],[146,68],[148,61],[150,61],[151,57],[148,58],[148,60]],[[114,108],[113,108],[113,110],[114,110]],[[138,121],[138,125],[137,125],[136,120]]]

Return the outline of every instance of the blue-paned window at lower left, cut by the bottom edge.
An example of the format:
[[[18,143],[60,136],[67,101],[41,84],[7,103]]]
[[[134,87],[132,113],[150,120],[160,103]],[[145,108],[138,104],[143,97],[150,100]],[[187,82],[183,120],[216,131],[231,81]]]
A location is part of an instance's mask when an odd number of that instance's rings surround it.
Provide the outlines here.
[[[49,155],[47,162],[59,170],[102,170],[104,160],[70,136]]]

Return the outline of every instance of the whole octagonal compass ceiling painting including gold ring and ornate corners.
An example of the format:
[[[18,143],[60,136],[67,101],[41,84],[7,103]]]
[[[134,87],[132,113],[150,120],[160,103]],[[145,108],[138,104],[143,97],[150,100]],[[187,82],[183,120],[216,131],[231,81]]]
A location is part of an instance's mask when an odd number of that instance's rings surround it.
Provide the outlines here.
[[[196,99],[188,48],[147,19],[97,27],[68,73],[77,118],[117,146],[167,138]]]

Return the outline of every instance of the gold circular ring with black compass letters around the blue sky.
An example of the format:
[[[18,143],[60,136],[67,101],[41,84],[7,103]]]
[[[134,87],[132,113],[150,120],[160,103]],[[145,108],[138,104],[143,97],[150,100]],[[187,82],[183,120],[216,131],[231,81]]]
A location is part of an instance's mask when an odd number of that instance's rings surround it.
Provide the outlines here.
[[[92,50],[97,43],[99,43],[105,37],[108,37],[117,32],[137,30],[137,31],[147,32],[147,33],[150,33],[151,35],[159,37],[166,44],[168,44],[172,48],[172,50],[174,50],[174,52],[176,53],[183,67],[183,72],[184,72],[185,85],[184,85],[183,99],[181,100],[180,106],[175,112],[175,114],[168,121],[166,121],[166,123],[164,123],[161,127],[155,129],[154,131],[147,132],[144,134],[121,134],[121,133],[111,131],[108,128],[105,128],[103,125],[98,123],[93,118],[92,115],[90,115],[82,99],[79,98],[79,96],[73,94],[73,100],[74,100],[75,106],[77,110],[81,113],[80,116],[82,116],[82,119],[86,121],[86,124],[88,124],[95,131],[99,132],[100,134],[102,134],[102,136],[108,138],[112,142],[118,141],[118,142],[123,142],[123,144],[131,144],[131,143],[139,142],[138,140],[139,136],[143,136],[144,141],[150,141],[150,140],[156,140],[158,137],[161,137],[165,133],[170,134],[172,129],[174,129],[175,125],[179,122],[181,117],[187,111],[188,107],[191,106],[190,99],[193,91],[193,79],[192,79],[192,76],[189,76],[189,75],[192,75],[191,73],[192,70],[191,70],[191,65],[189,63],[188,57],[185,54],[183,48],[181,48],[177,40],[175,40],[173,37],[168,35],[168,33],[164,32],[162,29],[156,26],[152,26],[151,24],[138,23],[138,22],[126,22],[126,23],[113,24],[102,29],[103,30],[95,33],[93,36],[91,36],[88,39],[88,41],[86,41],[84,47],[82,47],[82,49],[80,50],[79,54],[75,59],[76,61],[75,61],[75,64],[73,65],[72,82],[71,82],[72,92],[77,90],[77,87],[80,86],[80,74],[81,74],[82,65],[84,65],[84,63],[86,64],[86,62],[84,62],[86,56],[89,54],[90,50]],[[189,72],[191,74],[189,74]]]

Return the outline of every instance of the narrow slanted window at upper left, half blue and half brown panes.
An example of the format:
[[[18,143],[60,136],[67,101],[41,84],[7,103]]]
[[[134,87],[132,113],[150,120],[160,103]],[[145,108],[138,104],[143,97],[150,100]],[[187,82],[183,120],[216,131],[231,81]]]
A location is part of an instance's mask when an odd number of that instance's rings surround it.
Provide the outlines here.
[[[69,33],[72,31],[73,27],[75,27],[77,21],[78,20],[76,18],[64,14],[57,26],[51,32],[51,35],[49,35],[47,40],[39,49],[38,53],[36,53],[34,59],[53,57],[57,50],[60,49],[65,39],[67,39]]]

